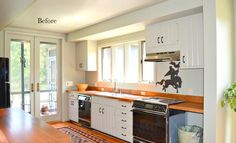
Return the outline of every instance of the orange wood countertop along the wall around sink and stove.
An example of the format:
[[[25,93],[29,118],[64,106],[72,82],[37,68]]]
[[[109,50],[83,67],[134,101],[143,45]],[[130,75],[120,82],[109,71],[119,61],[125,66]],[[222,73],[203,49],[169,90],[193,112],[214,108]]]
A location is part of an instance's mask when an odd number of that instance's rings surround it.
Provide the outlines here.
[[[187,112],[195,112],[195,113],[203,113],[203,97],[194,97],[194,96],[188,96],[188,95],[176,95],[174,94],[173,97],[171,96],[164,96],[163,93],[161,94],[155,94],[152,96],[142,96],[142,95],[133,95],[133,94],[116,94],[112,95],[114,93],[111,92],[101,92],[101,91],[71,91],[71,92],[77,92],[80,94],[86,94],[86,95],[91,95],[91,96],[101,96],[101,97],[107,97],[107,98],[112,98],[112,99],[117,99],[121,101],[126,101],[126,102],[133,102],[135,99],[138,98],[150,98],[150,97],[158,97],[158,98],[172,98],[172,99],[177,99],[177,100],[183,100],[183,103],[179,104],[173,104],[170,105],[170,109],[176,109],[176,110],[182,110],[182,111],[187,111]],[[183,97],[179,97],[183,96]],[[192,100],[192,101],[191,101]],[[199,101],[200,100],[200,101]]]

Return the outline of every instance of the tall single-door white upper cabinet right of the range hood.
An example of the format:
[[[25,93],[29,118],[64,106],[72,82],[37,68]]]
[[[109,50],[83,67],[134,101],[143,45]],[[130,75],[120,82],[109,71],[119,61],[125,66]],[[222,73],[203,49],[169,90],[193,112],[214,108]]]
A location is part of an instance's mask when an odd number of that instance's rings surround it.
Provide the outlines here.
[[[203,16],[196,14],[180,20],[181,68],[203,68]]]

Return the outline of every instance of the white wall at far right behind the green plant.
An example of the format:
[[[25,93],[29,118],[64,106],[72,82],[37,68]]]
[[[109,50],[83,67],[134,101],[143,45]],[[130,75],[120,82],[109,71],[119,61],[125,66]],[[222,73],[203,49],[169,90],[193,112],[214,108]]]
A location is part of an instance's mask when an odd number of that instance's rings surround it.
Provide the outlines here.
[[[233,81],[233,0],[204,1],[204,142],[233,143],[235,113],[221,108]]]

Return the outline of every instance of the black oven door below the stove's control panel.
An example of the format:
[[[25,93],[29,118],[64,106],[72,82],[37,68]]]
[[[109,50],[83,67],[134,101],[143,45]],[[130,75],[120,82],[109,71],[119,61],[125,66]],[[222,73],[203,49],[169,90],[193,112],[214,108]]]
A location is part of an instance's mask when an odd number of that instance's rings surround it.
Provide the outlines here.
[[[167,116],[145,109],[133,109],[135,143],[167,143]]]

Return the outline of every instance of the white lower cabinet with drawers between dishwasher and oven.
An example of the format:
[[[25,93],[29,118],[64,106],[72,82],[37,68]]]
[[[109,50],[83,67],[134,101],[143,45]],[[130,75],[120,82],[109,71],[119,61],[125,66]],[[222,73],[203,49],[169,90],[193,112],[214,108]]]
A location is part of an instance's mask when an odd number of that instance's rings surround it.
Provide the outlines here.
[[[132,103],[92,96],[91,127],[133,142]]]

